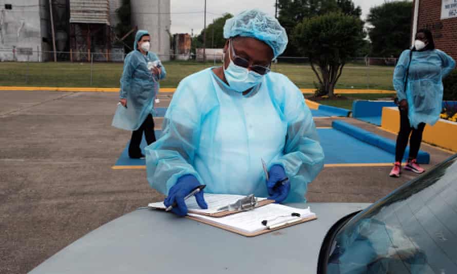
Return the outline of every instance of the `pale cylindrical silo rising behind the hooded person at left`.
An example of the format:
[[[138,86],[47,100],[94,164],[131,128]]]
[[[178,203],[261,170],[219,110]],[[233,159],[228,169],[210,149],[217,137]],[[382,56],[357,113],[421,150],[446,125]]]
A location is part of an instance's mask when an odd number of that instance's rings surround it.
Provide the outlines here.
[[[170,59],[170,0],[131,0],[132,26],[148,30],[151,48],[160,60]]]

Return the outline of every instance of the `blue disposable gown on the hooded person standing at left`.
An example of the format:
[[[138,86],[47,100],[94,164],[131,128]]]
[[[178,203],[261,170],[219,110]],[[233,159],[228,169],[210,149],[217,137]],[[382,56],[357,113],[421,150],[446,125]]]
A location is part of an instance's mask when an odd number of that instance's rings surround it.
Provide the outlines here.
[[[148,34],[145,30],[137,32],[135,49],[137,41],[145,34]],[[154,99],[159,92],[159,80],[166,76],[163,66],[160,67],[160,75],[153,74],[147,69],[147,63],[156,60],[159,58],[150,51],[147,52],[147,55],[143,55],[136,49],[127,54],[120,89],[121,99],[127,99],[127,108],[118,106],[112,126],[125,130],[137,130],[147,115],[154,114]]]

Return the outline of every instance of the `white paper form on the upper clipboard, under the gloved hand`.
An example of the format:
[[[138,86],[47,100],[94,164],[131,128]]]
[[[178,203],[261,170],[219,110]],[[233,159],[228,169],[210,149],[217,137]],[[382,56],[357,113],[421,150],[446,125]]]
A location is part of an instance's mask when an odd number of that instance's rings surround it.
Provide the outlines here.
[[[208,209],[201,209],[200,206],[198,206],[197,201],[195,197],[191,197],[185,201],[187,209],[193,212],[198,212],[198,213],[208,213],[208,214],[213,214],[219,212],[217,209],[221,208],[223,206],[233,204],[236,201],[238,201],[241,198],[244,198],[245,196],[243,195],[232,195],[232,194],[212,194],[212,193],[205,193],[204,198],[206,201],[206,204],[208,205]],[[266,200],[266,198],[257,198],[257,201],[262,201]],[[165,209],[165,205],[163,202],[157,202],[157,203],[150,203],[147,205],[149,208],[159,208],[159,209]]]

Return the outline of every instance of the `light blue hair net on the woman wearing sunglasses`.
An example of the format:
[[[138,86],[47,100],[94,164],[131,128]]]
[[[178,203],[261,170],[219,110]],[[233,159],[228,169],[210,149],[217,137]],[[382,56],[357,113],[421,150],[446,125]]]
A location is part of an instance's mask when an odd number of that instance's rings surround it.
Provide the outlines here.
[[[237,35],[263,41],[273,49],[275,58],[284,52],[289,41],[278,20],[257,9],[243,11],[225,21],[224,38]]]

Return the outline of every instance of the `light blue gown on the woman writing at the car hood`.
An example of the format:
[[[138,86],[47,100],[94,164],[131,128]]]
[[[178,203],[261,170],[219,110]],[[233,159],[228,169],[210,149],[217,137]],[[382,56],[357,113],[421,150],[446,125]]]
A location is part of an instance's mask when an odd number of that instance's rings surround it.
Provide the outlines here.
[[[268,197],[261,159],[282,165],[291,181],[285,202],[306,201],[324,158],[311,111],[287,77],[268,73],[243,95],[212,69],[181,81],[161,138],[145,152],[148,182],[164,194],[192,174],[207,193]]]

